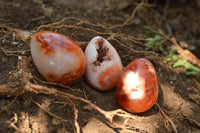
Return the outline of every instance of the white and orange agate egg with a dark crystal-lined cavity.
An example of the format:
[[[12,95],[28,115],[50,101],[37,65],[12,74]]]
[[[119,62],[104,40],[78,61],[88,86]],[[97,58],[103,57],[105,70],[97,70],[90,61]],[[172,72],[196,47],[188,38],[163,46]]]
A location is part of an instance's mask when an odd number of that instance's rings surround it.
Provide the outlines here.
[[[95,89],[107,91],[117,85],[122,71],[121,59],[115,48],[104,38],[94,37],[85,49],[85,78]]]

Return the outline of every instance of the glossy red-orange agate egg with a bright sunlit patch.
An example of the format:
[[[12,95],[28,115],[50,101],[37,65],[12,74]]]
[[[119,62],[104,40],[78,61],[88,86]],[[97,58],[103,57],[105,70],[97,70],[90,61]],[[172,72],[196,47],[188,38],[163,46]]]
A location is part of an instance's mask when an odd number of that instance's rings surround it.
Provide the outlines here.
[[[117,84],[117,100],[125,110],[142,113],[156,103],[158,90],[158,80],[153,65],[145,58],[138,58],[122,72]]]

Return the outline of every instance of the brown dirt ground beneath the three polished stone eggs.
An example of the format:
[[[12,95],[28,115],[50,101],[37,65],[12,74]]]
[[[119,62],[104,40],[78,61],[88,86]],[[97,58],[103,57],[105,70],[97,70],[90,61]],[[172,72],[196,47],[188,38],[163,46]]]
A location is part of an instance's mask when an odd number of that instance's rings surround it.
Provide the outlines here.
[[[166,61],[169,55],[156,49],[145,51],[144,43],[148,36],[162,33],[174,37],[178,44],[185,42],[186,46],[180,46],[192,50],[200,58],[199,13],[199,0],[151,0],[142,4],[139,0],[0,0],[0,83],[8,83],[7,76],[15,69],[19,55],[28,57],[32,74],[45,81],[32,62],[28,41],[16,37],[9,27],[32,33],[39,30],[56,31],[72,38],[83,50],[94,36],[100,35],[116,48],[124,66],[139,57],[149,59],[159,80],[157,103],[168,112],[166,114],[178,132],[198,133],[199,78],[187,76],[183,67],[173,69],[173,62]],[[153,30],[149,33],[144,26],[150,26]],[[162,42],[166,51],[174,45],[169,39]],[[84,77],[71,85],[75,91],[41,83],[37,78],[31,82],[85,98],[106,111],[121,109],[115,89],[99,92],[90,87]],[[0,133],[76,132],[73,107],[67,99],[24,93],[10,104],[14,98],[0,98]],[[124,128],[119,128],[88,104],[78,100],[72,102],[78,110],[77,121],[83,133],[173,132],[165,125],[166,119],[156,106],[145,113],[129,114],[129,118],[115,116],[114,121],[124,125]]]

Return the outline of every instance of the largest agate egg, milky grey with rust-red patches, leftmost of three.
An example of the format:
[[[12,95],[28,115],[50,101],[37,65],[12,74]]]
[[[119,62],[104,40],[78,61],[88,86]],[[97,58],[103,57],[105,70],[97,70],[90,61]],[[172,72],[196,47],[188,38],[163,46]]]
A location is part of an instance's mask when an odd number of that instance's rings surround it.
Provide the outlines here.
[[[85,71],[85,56],[70,38],[52,31],[40,31],[30,43],[33,61],[47,81],[70,85]]]

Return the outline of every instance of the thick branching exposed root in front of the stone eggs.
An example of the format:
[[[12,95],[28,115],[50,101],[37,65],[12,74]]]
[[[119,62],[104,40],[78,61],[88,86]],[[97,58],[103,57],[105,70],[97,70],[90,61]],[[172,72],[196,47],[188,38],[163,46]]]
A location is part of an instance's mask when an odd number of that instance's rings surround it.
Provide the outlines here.
[[[84,102],[86,104],[89,104],[92,108],[94,108],[95,110],[100,112],[102,115],[104,115],[106,119],[108,119],[111,123],[113,123],[118,128],[122,128],[123,126],[118,125],[117,123],[115,123],[113,121],[114,116],[117,115],[117,116],[124,117],[124,118],[134,118],[132,115],[126,113],[123,110],[105,111],[105,110],[101,109],[100,107],[98,107],[97,105],[91,103],[90,101],[88,101],[82,97],[74,96],[74,95],[66,93],[66,92],[61,92],[55,88],[48,88],[45,86],[33,84],[30,81],[33,79],[33,76],[28,71],[28,62],[27,62],[26,57],[24,57],[24,56],[19,56],[17,70],[12,73],[12,78],[13,78],[12,80],[15,79],[16,84],[12,83],[12,85],[9,85],[9,84],[8,85],[0,85],[0,96],[1,97],[2,96],[18,96],[25,92],[32,92],[35,94],[46,94],[46,95],[53,95],[53,96],[57,96],[57,97],[63,97],[65,99],[67,99],[73,106],[74,116],[75,116],[74,122],[75,122],[75,127],[76,127],[77,132],[80,132],[80,127],[77,122],[78,109],[76,108],[75,104],[71,101],[71,99],[78,100],[78,101]],[[34,103],[37,104],[40,108],[42,108],[37,102],[34,102]],[[62,119],[58,116],[53,115],[52,113],[45,110],[44,108],[42,108],[42,109],[45,112],[47,112],[48,114],[50,114],[51,116],[54,116],[55,118],[58,118],[58,119]],[[65,121],[65,120],[62,119],[62,121]]]

